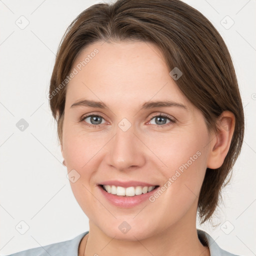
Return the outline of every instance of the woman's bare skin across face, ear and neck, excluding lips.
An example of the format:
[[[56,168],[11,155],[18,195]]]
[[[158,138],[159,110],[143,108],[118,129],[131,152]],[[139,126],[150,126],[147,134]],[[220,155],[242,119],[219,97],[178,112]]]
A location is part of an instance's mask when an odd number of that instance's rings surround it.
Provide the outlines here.
[[[220,131],[209,132],[202,113],[178,89],[152,43],[96,42],[80,52],[72,69],[95,48],[99,52],[67,85],[61,141],[67,171],[80,175],[70,182],[73,194],[89,219],[79,256],[210,255],[196,233],[197,201],[206,168],[219,167],[228,151],[233,114],[224,111]],[[108,108],[70,107],[80,99],[102,101]],[[185,108],[139,110],[149,100],[171,100]],[[160,113],[175,122],[163,118],[165,123],[159,124],[155,116]],[[86,114],[102,115],[101,123],[92,120],[98,125],[94,128],[86,125],[92,124],[90,118],[78,121]],[[127,131],[118,127],[123,118],[131,124]],[[154,202],[116,207],[97,186],[109,179],[162,186],[198,151],[200,156]],[[123,221],[131,226],[125,234],[118,228]]]

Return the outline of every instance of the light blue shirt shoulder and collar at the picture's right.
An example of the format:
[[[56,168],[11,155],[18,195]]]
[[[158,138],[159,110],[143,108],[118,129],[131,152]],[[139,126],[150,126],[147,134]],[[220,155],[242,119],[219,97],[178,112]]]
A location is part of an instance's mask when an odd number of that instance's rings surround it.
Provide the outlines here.
[[[232,254],[226,250],[221,249],[214,239],[205,231],[196,229],[199,240],[202,244],[205,244],[209,247],[210,256],[239,256],[236,254]]]

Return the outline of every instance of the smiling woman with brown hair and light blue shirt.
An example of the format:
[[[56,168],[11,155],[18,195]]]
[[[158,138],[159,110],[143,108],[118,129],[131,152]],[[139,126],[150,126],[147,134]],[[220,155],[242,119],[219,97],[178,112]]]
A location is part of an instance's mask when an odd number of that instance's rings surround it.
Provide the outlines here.
[[[48,97],[89,231],[12,255],[234,255],[195,225],[212,216],[244,130],[229,52],[200,12],[90,6],[62,38]]]

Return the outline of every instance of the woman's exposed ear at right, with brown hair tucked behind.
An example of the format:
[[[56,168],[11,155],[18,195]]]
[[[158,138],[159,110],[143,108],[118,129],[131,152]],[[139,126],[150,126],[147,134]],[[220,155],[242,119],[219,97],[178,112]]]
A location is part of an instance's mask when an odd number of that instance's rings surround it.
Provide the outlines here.
[[[230,111],[223,111],[217,120],[217,133],[211,134],[207,167],[219,168],[230,147],[234,132],[235,117]]]

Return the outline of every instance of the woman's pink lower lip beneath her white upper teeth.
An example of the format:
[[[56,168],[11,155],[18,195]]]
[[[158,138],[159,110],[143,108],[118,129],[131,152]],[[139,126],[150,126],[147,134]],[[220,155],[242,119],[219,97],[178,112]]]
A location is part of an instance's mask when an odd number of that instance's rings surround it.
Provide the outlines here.
[[[153,195],[155,193],[155,191],[157,190],[157,188],[159,188],[159,186],[158,186],[158,187],[154,188],[152,191],[144,193],[144,194],[142,193],[142,194],[134,195],[134,196],[123,196],[123,195],[116,195],[116,194],[108,193],[100,185],[98,185],[98,187],[99,187],[101,193],[103,194],[103,196],[105,196],[105,198],[109,202],[111,202],[115,206],[119,206],[122,208],[129,208],[129,207],[133,207],[133,206],[136,206],[136,205],[142,203],[143,201],[147,200],[149,196]]]

